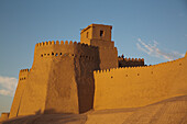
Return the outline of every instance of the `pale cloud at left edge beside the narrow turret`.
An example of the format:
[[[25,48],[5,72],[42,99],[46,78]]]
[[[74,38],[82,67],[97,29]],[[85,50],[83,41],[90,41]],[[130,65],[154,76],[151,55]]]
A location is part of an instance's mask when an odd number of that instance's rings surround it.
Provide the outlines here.
[[[14,94],[16,84],[16,78],[0,76],[0,94],[12,97]]]

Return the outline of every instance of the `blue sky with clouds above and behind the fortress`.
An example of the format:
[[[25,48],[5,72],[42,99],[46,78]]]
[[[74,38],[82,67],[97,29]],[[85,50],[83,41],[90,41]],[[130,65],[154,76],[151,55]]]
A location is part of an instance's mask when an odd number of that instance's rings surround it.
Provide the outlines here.
[[[119,55],[147,65],[187,50],[187,0],[0,0],[0,112],[10,110],[19,70],[31,68],[36,43],[79,42],[91,23],[112,25]]]

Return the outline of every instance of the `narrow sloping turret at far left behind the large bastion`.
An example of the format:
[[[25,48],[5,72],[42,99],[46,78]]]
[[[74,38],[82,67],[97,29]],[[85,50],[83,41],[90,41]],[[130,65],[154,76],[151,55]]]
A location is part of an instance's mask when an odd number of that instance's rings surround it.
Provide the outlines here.
[[[21,99],[24,93],[25,86],[28,83],[28,77],[29,77],[29,69],[22,69],[20,70],[19,74],[19,83],[16,87],[16,91],[13,98],[12,106],[10,110],[10,119],[18,116],[19,110],[20,110],[20,104],[21,104]]]

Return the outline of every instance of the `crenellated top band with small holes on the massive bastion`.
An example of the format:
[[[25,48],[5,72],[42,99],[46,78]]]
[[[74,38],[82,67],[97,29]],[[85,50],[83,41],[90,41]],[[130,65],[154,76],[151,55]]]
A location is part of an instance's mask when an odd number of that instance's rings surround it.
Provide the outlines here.
[[[64,57],[81,58],[85,60],[98,59],[98,47],[73,41],[48,41],[37,43],[34,52],[34,63]],[[44,59],[46,58],[46,59]],[[37,64],[38,64],[37,63]]]

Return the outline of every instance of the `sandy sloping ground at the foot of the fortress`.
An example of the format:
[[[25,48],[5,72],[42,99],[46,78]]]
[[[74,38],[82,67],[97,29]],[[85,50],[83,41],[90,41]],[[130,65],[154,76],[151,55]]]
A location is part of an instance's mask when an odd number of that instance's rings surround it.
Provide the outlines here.
[[[136,109],[20,116],[0,124],[187,124],[187,95]]]

